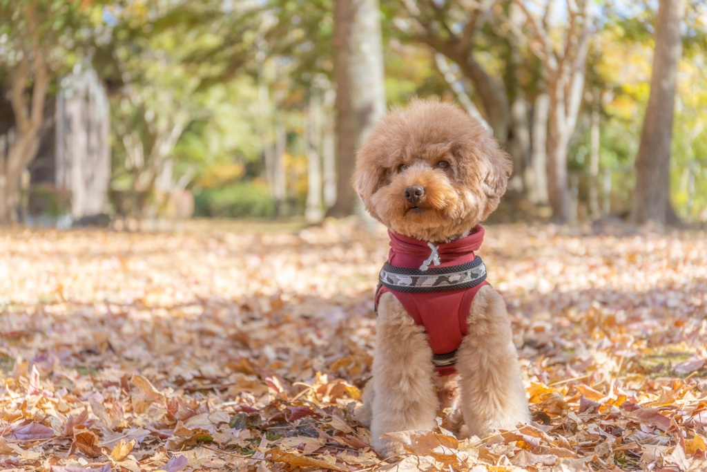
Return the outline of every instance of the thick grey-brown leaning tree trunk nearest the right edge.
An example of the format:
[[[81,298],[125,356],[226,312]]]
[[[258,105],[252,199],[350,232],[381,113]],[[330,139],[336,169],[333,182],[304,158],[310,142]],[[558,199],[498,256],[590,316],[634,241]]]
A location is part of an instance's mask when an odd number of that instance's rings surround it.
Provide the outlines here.
[[[655,25],[653,72],[636,157],[636,188],[631,221],[642,224],[674,221],[670,207],[670,146],[677,64],[682,56],[680,20],[684,0],[660,0]],[[671,221],[667,221],[671,217]]]

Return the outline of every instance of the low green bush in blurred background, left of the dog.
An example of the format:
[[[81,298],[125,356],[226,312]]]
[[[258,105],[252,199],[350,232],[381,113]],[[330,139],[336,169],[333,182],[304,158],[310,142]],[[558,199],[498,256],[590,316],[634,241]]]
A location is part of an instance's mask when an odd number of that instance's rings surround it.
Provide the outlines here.
[[[219,218],[272,217],[275,205],[262,180],[240,180],[194,192],[195,215]]]

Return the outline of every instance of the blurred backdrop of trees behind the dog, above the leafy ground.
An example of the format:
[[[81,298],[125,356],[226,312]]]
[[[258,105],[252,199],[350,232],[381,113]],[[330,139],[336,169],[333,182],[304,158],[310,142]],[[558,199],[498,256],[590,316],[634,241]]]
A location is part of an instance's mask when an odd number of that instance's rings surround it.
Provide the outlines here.
[[[707,220],[703,0],[0,6],[1,224],[356,214],[356,147],[414,97],[513,157],[499,218]]]

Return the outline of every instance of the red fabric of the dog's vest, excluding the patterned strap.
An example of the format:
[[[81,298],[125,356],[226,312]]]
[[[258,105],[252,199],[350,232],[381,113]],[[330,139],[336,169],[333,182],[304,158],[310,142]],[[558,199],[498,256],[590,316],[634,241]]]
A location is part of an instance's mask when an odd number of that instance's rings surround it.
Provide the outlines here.
[[[425,241],[391,231],[388,231],[388,236],[390,236],[390,253],[388,254],[390,265],[418,269],[431,254],[431,248]],[[434,267],[451,267],[472,262],[476,258],[474,251],[479,250],[483,240],[484,228],[479,224],[472,229],[469,236],[440,244],[438,247],[440,265]],[[375,294],[375,306],[378,308],[378,300],[385,292],[395,295],[395,298],[400,301],[415,323],[423,326],[427,331],[432,352],[436,355],[443,355],[457,350],[462,343],[462,338],[469,332],[467,325],[469,310],[474,296],[484,285],[489,285],[489,282],[484,280],[484,282],[466,289],[428,293],[398,292],[380,285]],[[436,369],[440,375],[456,372],[454,365],[436,367]]]

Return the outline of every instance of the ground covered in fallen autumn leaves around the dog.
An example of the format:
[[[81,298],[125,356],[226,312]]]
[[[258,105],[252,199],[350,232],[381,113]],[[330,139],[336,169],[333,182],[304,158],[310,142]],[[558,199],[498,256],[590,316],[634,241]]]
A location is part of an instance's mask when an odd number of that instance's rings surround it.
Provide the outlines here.
[[[6,232],[0,471],[707,470],[706,236],[489,226],[536,421],[382,461],[382,231]]]

